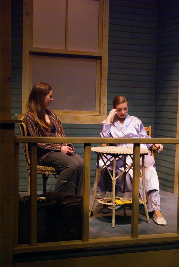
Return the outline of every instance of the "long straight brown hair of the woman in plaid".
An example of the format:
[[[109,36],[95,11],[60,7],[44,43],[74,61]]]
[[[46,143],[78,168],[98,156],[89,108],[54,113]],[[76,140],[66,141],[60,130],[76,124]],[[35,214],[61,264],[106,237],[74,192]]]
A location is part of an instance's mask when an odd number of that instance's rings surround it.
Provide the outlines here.
[[[35,118],[35,122],[41,129],[50,130],[50,123],[45,120],[45,96],[52,90],[51,86],[44,82],[36,83],[29,95],[27,108]]]

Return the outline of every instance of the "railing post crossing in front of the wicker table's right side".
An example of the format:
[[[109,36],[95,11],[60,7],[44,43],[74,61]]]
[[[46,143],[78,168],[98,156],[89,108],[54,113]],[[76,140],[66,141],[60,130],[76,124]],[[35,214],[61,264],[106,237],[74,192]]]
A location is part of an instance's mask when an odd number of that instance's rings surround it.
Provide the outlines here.
[[[138,237],[139,221],[139,182],[140,182],[140,144],[134,144],[132,179],[132,220],[131,237]]]

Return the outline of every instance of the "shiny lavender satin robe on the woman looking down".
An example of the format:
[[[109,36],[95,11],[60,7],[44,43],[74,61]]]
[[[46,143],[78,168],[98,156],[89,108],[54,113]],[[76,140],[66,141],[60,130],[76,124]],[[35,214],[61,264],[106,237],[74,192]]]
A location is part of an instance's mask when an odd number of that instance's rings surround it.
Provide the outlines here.
[[[146,134],[145,128],[137,117],[127,115],[123,125],[118,121],[114,120],[112,124],[108,125],[105,124],[105,120],[100,124],[101,132],[100,137],[140,137],[140,138],[150,138]],[[151,147],[154,144],[141,144],[141,148],[145,149],[151,149]],[[133,147],[133,144],[114,144],[114,146],[121,146],[121,147]],[[104,158],[104,161],[105,158]],[[127,156],[127,163],[132,163],[132,159]],[[142,161],[142,160],[141,160]],[[102,160],[99,161],[99,168],[101,168],[103,165]],[[142,165],[142,162],[141,162]],[[142,166],[141,166],[142,167]],[[122,170],[123,168],[121,168]],[[120,171],[118,171],[120,172]],[[130,170],[129,173],[126,176],[126,191],[132,191],[132,173],[133,171]],[[104,173],[102,173],[99,176],[99,182],[98,182],[98,191],[104,190],[104,183],[103,183],[103,176]],[[122,177],[119,177],[116,181],[116,184],[123,188],[123,179]],[[159,180],[155,169],[155,160],[152,157],[152,154],[148,154],[145,156],[145,189],[146,193],[150,190],[159,190]],[[143,198],[142,193],[142,179],[140,178],[140,195]],[[148,195],[148,194],[147,194]]]

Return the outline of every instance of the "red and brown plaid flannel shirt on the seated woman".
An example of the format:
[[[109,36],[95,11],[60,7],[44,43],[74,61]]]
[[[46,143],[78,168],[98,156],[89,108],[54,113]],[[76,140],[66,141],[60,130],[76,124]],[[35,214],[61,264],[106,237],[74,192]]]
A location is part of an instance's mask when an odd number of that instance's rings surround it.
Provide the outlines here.
[[[49,115],[50,121],[54,124],[55,136],[57,136],[57,137],[65,137],[61,121],[59,120],[57,115],[50,109],[46,109],[46,112]],[[24,116],[23,123],[26,124],[27,135],[28,136],[52,136],[51,130],[44,130],[44,129],[41,130],[38,127],[37,123],[35,122],[34,116],[29,111]],[[38,164],[40,165],[42,163],[42,161],[45,159],[45,157],[50,152],[54,152],[54,151],[56,151],[56,152],[59,151],[60,152],[61,147],[62,146],[66,146],[66,145],[73,149],[72,150],[72,154],[74,154],[75,150],[73,148],[73,144],[72,143],[61,143],[61,144],[60,143],[37,143],[37,146],[41,148],[41,151],[42,151],[42,149],[45,149],[43,155],[42,154],[40,155],[40,153],[37,152],[37,162],[38,162]]]

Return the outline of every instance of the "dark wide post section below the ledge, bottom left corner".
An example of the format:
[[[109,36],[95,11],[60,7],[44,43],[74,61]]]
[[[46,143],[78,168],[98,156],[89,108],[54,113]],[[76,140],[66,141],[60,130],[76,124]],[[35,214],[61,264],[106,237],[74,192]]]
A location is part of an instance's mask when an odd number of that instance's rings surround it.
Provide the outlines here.
[[[13,266],[14,123],[0,123],[1,267]]]

